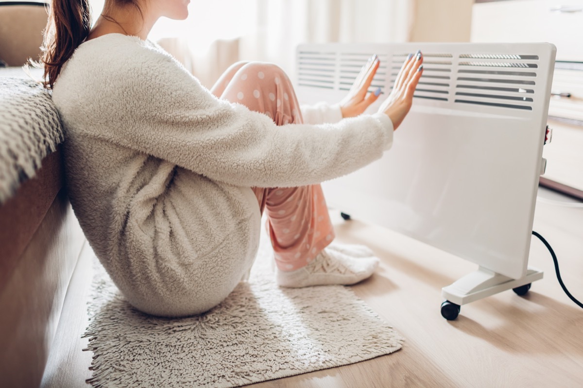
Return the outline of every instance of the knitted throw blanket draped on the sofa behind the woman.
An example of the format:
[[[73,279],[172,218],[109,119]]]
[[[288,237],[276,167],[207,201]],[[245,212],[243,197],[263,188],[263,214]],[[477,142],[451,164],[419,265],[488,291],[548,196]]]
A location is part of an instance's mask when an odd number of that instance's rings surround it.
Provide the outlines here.
[[[0,204],[63,140],[50,92],[33,80],[0,77]]]

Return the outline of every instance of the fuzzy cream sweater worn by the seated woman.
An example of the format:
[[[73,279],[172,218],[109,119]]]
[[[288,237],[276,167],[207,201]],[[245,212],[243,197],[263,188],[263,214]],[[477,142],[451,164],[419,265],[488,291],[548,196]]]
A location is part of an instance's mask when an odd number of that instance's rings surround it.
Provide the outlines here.
[[[80,225],[127,300],[154,315],[206,311],[251,268],[261,221],[251,187],[339,177],[392,142],[382,114],[278,127],[121,34],[81,44],[52,98]]]

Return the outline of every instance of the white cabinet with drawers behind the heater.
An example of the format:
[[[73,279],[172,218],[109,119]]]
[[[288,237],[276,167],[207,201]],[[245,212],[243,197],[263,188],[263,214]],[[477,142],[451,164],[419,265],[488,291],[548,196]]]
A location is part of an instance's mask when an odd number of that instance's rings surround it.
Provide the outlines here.
[[[507,0],[472,8],[472,42],[550,42],[557,47],[545,145],[545,186],[583,198],[583,0]],[[558,183],[558,184],[557,184]]]

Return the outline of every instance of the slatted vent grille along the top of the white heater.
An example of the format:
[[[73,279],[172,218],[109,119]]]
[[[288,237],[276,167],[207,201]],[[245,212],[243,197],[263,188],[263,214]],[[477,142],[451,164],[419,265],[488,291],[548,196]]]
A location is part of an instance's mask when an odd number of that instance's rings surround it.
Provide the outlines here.
[[[361,50],[354,45],[345,51],[334,47],[318,51],[308,47],[298,51],[298,86],[342,91],[343,94],[350,90],[361,68],[374,54],[381,64],[369,92],[380,88],[383,94],[389,93],[403,61],[410,54],[403,48],[397,52],[381,49],[375,53],[374,47]],[[456,105],[466,106],[465,109],[491,106],[533,110],[541,71],[538,55],[459,54],[440,52],[440,48],[435,50],[423,51],[423,76],[415,98],[434,101],[428,104],[447,104],[449,108]]]

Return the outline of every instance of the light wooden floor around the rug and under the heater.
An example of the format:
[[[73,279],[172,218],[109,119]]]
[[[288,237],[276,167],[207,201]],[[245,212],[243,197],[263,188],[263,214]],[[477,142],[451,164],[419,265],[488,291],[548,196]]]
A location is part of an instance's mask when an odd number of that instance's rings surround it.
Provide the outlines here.
[[[344,222],[338,212],[333,221],[338,241],[366,244],[381,258],[378,272],[353,290],[405,344],[369,361],[252,387],[583,387],[583,309],[561,290],[540,241],[532,241],[529,265],[545,277],[526,296],[505,291],[463,305],[456,321],[446,321],[441,287],[475,264],[378,226]],[[583,208],[538,202],[534,229],[553,246],[568,289],[583,300]],[[86,353],[83,362],[90,362]],[[51,369],[45,387],[83,387],[90,376],[65,362],[53,362]]]

